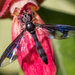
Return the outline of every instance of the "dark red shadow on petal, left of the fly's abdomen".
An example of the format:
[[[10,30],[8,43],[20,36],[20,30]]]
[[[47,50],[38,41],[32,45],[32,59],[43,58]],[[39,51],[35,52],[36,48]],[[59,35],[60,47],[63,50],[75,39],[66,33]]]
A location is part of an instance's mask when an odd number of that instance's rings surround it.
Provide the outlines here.
[[[33,56],[35,54],[36,54],[36,56]],[[21,67],[23,68],[24,63],[26,63],[27,65],[32,65],[38,59],[38,57],[39,57],[39,55],[36,50],[36,46],[34,45],[33,48],[29,51],[29,53],[24,57],[24,59],[22,59]]]

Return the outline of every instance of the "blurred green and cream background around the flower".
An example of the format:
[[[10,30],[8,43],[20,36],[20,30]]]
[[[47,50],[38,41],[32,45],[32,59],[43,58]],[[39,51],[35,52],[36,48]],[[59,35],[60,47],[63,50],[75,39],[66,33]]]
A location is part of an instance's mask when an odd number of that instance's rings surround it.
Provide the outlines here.
[[[45,0],[37,11],[46,24],[75,26],[75,0]],[[0,55],[11,42],[11,19],[0,19]],[[52,39],[57,75],[75,75],[75,37]],[[16,67],[15,67],[16,65]],[[0,75],[23,75],[17,61],[0,68]]]

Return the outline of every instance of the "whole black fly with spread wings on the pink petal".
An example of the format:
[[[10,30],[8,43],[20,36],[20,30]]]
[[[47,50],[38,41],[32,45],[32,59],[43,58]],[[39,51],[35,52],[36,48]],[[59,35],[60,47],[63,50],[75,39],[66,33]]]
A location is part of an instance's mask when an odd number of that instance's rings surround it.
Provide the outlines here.
[[[60,24],[39,24],[39,23],[34,23],[34,20],[36,20],[34,13],[32,12],[31,14],[28,13],[27,11],[24,11],[22,14],[20,14],[21,17],[18,16],[18,20],[21,21],[21,25],[24,24],[25,28],[22,28],[22,32],[10,43],[10,45],[6,48],[4,53],[2,54],[0,58],[0,67],[7,65],[14,60],[16,60],[19,56],[16,55],[15,52],[17,52],[17,48],[20,45],[21,39],[24,36],[24,33],[28,31],[36,44],[37,52],[42,59],[42,61],[45,64],[48,64],[48,59],[47,55],[38,41],[37,35],[35,33],[36,27],[40,27],[42,30],[47,29],[49,32],[49,37],[50,38],[55,38],[55,39],[65,39],[71,36],[75,36],[75,27],[70,26],[70,25],[60,25]],[[34,19],[33,19],[34,18]],[[6,60],[5,59],[9,59]]]

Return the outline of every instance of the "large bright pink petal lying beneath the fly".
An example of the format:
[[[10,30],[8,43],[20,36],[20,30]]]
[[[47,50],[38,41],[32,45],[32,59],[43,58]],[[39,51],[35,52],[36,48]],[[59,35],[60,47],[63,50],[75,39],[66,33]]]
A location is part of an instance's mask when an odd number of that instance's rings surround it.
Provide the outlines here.
[[[36,15],[36,18],[43,23],[39,15]],[[17,37],[20,32],[20,22],[17,20],[17,17],[14,17],[12,26],[12,40]],[[43,33],[43,35],[39,36],[40,32]],[[18,49],[19,51],[21,49],[24,50],[18,58],[19,64],[25,75],[55,75],[56,65],[52,44],[50,39],[44,35],[48,33],[45,33],[43,30],[40,30],[40,28],[37,28],[36,34],[47,54],[48,64],[46,65],[37,53],[34,39],[29,32],[24,33],[24,37]]]

